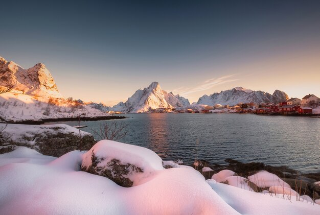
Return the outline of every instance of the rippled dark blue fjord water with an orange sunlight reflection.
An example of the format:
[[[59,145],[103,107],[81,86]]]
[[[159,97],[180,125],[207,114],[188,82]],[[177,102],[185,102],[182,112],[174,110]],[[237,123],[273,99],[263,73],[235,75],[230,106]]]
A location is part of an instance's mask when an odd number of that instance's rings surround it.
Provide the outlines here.
[[[253,114],[126,114],[121,142],[146,147],[163,160],[196,158],[224,164],[242,162],[287,165],[303,173],[320,168],[320,119]],[[84,131],[102,122],[82,122]],[[75,122],[68,123],[74,125]],[[98,139],[98,137],[96,136]]]

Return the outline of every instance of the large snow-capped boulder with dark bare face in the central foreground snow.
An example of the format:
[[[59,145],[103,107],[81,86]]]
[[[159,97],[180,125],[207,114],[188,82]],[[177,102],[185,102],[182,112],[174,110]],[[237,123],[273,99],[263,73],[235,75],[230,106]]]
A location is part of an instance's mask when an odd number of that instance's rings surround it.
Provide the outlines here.
[[[136,186],[163,170],[153,151],[121,142],[101,140],[85,153],[81,170],[111,179],[124,187]]]

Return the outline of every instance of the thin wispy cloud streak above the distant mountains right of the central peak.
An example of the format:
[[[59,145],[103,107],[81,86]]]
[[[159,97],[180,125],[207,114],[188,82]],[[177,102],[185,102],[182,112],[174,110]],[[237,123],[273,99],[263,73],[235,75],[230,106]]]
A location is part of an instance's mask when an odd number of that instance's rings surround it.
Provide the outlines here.
[[[199,91],[211,89],[214,86],[217,86],[219,84],[224,84],[224,83],[234,82],[234,81],[239,80],[239,79],[233,79],[232,78],[233,76],[235,76],[235,74],[228,75],[228,76],[222,76],[219,78],[211,78],[211,79],[205,80],[204,82],[202,82],[201,84],[199,84],[198,86],[195,86],[193,88],[179,87],[177,89],[174,89],[173,91],[185,96],[185,95],[192,94],[194,92],[199,92]]]

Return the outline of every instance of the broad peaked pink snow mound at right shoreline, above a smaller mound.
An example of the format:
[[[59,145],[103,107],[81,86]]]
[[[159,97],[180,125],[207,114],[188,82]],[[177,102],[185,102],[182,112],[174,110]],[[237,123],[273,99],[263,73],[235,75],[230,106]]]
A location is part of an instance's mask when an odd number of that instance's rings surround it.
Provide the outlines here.
[[[291,188],[289,184],[284,182],[277,175],[269,173],[267,171],[260,171],[252,176],[248,176],[248,179],[255,183],[258,187],[270,187],[270,186],[282,186]]]

